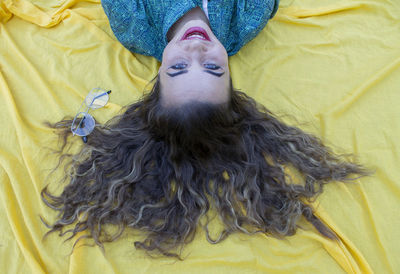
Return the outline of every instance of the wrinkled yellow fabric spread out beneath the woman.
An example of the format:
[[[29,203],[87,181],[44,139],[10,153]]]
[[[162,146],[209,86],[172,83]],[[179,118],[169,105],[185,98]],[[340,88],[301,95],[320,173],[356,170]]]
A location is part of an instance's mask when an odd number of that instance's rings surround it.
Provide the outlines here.
[[[74,115],[94,87],[113,91],[92,112],[106,121],[142,95],[159,64],[118,43],[99,1],[0,0],[2,272],[399,273],[399,22],[396,0],[281,0],[275,18],[230,59],[236,88],[375,169],[354,184],[328,185],[314,203],[340,241],[304,221],[284,240],[237,234],[211,245],[199,232],[175,262],[135,250],[131,232],[104,254],[81,244],[70,254],[72,242],[56,234],[42,241],[39,215],[55,213],[40,190],[54,167],[47,148],[57,145],[43,122]]]

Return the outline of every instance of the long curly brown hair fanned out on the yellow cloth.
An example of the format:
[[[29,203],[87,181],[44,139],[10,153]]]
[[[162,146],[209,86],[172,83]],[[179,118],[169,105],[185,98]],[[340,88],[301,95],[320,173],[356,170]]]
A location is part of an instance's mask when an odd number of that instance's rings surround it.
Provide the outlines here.
[[[72,121],[51,124],[64,140],[60,159],[68,161],[62,193],[42,190],[43,201],[59,212],[52,224],[42,219],[48,233],[71,239],[85,231],[82,237],[103,247],[130,227],[144,233],[136,248],[177,258],[199,227],[211,243],[234,232],[282,237],[294,234],[304,216],[336,238],[310,202],[325,183],[351,181],[368,169],[279,121],[232,82],[230,100],[218,105],[163,107],[160,90],[157,78],[142,99],[97,124],[77,154],[65,152]],[[292,182],[289,165],[302,183]],[[223,224],[216,238],[208,230],[210,209]],[[110,233],[108,225],[118,229]]]

